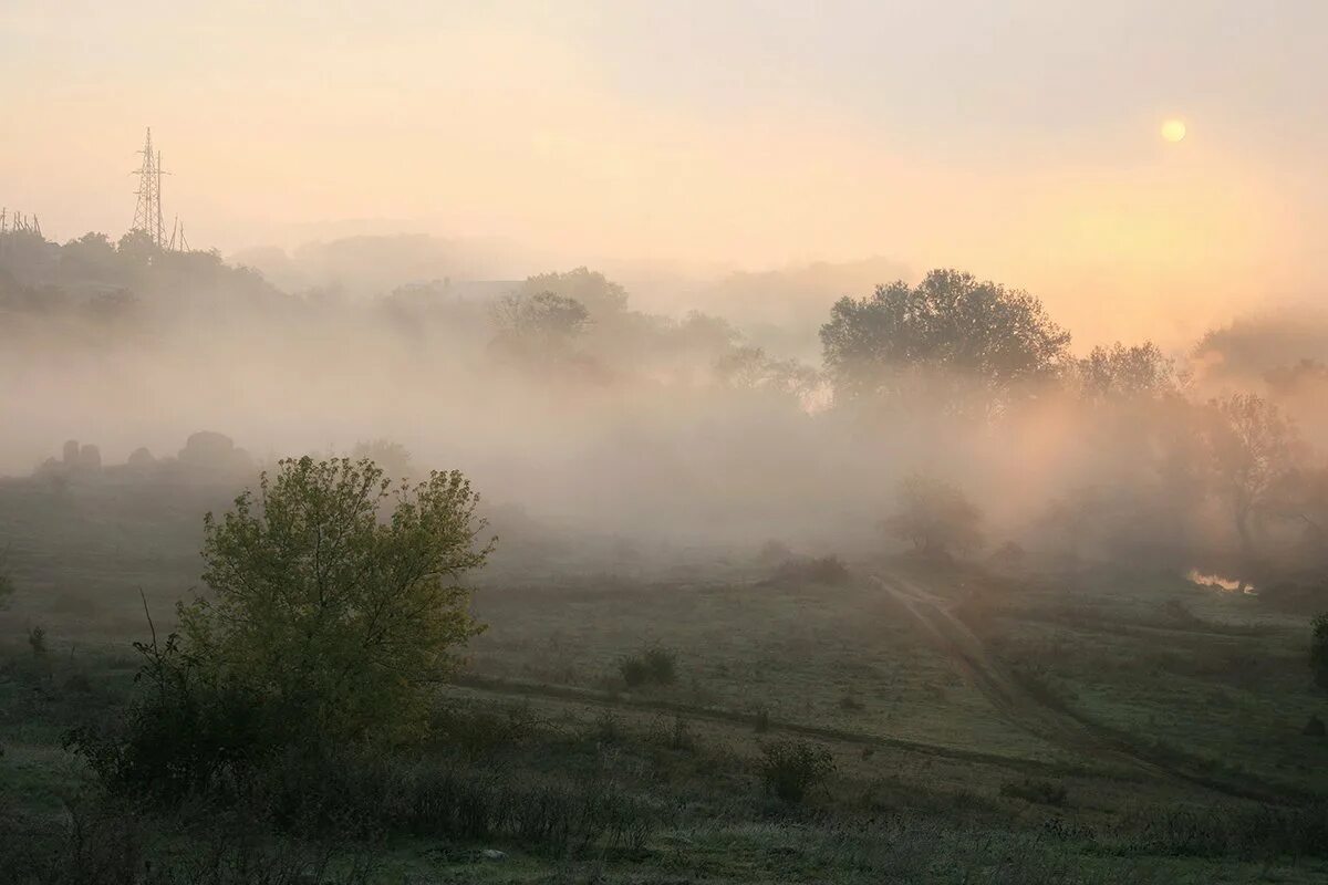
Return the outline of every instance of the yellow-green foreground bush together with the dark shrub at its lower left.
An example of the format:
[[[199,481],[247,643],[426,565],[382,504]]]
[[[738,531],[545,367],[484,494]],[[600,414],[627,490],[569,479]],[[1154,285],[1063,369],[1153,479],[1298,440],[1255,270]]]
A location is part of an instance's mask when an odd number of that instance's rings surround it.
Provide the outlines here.
[[[280,462],[258,500],[206,516],[211,594],[179,606],[181,634],[135,645],[122,730],[70,747],[109,784],[174,799],[287,747],[418,738],[479,630],[458,584],[491,549],[474,547],[477,503],[458,472],[393,490],[368,460]]]

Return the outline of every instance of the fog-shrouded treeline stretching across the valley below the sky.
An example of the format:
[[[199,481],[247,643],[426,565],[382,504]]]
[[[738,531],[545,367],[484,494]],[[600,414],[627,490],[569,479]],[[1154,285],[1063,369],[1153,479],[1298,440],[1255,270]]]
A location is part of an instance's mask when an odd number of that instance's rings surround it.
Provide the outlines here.
[[[963,515],[950,545],[972,555],[1013,541],[1066,560],[1194,567],[1271,596],[1323,592],[1320,313],[1238,320],[1187,353],[1138,341],[1077,354],[1032,295],[934,271],[838,301],[813,366],[721,317],[633,309],[587,268],[482,297],[434,280],[351,300],[282,293],[215,255],[133,236],[29,239],[0,255],[0,310],[29,320],[5,326],[27,329],[15,353],[35,341],[45,360],[129,349],[146,329],[155,350],[134,352],[139,370],[167,353],[182,399],[223,375],[284,387],[275,411],[248,417],[240,402],[210,421],[240,437],[247,419],[287,413],[335,414],[361,439],[412,427],[424,463],[491,463],[477,479],[502,498],[583,507],[628,535],[685,525],[829,553],[879,545],[884,520],[888,536],[927,547],[898,519],[906,507]],[[93,284],[122,288],[86,297]],[[65,334],[61,304],[81,305],[88,334]],[[193,313],[161,321],[181,304]],[[54,314],[45,346],[33,330]]]

